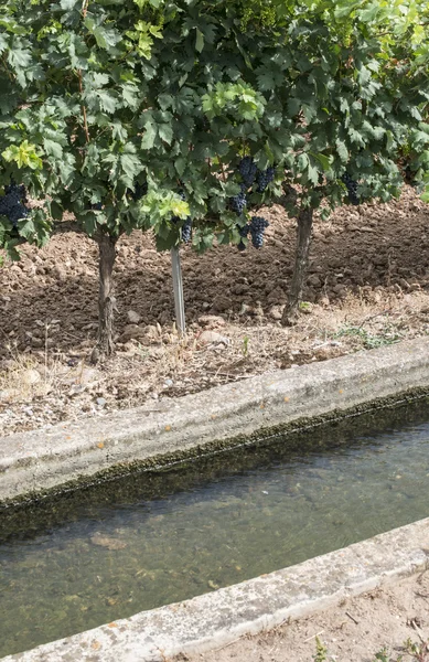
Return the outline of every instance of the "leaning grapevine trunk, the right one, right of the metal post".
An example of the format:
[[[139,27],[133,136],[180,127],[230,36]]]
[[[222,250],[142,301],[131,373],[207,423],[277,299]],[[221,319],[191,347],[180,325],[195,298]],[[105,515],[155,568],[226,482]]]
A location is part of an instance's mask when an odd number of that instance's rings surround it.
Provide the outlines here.
[[[281,318],[281,323],[283,327],[291,327],[297,322],[299,305],[302,299],[302,290],[304,287],[304,279],[309,265],[312,227],[313,210],[301,210],[298,215],[297,253],[292,282],[290,284],[288,302]]]

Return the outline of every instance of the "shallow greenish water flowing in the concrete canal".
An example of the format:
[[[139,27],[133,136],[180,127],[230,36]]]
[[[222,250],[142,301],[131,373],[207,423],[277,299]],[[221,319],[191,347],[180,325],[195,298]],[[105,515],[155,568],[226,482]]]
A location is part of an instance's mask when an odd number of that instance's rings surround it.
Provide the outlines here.
[[[428,516],[428,419],[390,410],[300,452],[279,439],[2,513],[0,656]]]

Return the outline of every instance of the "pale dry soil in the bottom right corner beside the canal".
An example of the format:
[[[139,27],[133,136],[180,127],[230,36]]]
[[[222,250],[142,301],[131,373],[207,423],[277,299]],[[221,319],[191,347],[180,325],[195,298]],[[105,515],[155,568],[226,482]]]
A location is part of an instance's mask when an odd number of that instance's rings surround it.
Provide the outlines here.
[[[319,656],[317,639],[325,649]],[[205,654],[182,654],[176,662],[428,662],[427,642],[428,572]]]

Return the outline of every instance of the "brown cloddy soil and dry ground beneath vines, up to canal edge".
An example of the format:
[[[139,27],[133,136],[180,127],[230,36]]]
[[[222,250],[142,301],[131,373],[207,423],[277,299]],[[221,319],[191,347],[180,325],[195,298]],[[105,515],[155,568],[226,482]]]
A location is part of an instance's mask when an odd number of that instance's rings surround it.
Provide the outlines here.
[[[342,207],[317,221],[298,324],[280,325],[296,223],[266,211],[266,245],[182,250],[187,333],[178,337],[169,253],[149,235],[118,244],[114,357],[92,365],[97,245],[64,232],[0,270],[0,435],[104,416],[264,371],[322,361],[429,332],[429,206]]]

